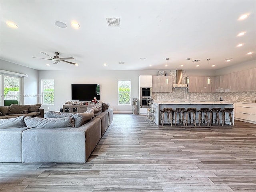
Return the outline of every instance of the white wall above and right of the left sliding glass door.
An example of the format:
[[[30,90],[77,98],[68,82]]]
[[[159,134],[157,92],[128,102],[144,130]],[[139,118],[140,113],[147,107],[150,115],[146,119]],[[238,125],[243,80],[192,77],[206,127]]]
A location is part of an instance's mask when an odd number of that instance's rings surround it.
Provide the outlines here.
[[[41,103],[40,98],[36,97],[38,95],[38,70],[21,66],[12,62],[0,60],[1,70],[28,74],[28,77],[24,77],[24,104],[37,104]]]

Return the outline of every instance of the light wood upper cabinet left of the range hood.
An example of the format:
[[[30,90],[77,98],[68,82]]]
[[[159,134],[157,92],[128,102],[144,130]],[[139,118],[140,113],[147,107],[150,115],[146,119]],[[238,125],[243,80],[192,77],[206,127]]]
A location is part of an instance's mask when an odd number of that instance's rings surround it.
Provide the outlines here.
[[[153,76],[152,77],[153,93],[170,93],[172,92],[172,77],[170,76]]]

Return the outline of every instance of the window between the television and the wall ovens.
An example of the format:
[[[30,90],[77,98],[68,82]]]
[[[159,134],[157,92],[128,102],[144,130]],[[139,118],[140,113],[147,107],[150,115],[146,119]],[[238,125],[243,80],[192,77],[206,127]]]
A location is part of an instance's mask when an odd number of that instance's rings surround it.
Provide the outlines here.
[[[118,105],[131,105],[131,80],[118,80]]]

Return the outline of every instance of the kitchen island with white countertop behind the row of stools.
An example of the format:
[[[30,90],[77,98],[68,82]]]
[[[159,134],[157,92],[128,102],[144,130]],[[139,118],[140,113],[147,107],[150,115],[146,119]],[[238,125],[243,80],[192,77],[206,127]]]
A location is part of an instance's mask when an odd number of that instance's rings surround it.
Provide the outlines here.
[[[232,102],[222,102],[222,101],[193,101],[193,102],[188,102],[188,101],[154,101],[153,107],[156,109],[155,110],[155,124],[159,125],[160,122],[160,110],[163,108],[173,108],[174,110],[176,108],[182,107],[182,108],[234,108],[234,103]],[[231,112],[232,116],[232,122],[234,125],[234,110]],[[228,114],[226,114],[226,117],[228,117]],[[215,116],[213,116],[215,118]],[[220,115],[221,118],[221,115]],[[167,118],[165,118],[167,119]],[[196,123],[198,124],[198,113],[196,113]],[[230,124],[230,122],[226,122],[226,124]]]

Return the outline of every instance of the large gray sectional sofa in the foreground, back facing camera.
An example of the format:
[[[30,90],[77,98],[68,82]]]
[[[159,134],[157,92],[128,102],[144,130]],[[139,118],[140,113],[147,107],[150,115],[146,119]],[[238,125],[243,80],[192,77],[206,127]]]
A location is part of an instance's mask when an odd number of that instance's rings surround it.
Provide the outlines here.
[[[95,112],[81,126],[75,115],[84,113],[55,112],[59,117],[54,118],[20,116],[20,122],[2,124],[0,120],[0,162],[86,162],[113,120],[112,108],[104,112],[95,108]],[[75,124],[79,127],[72,126]]]

